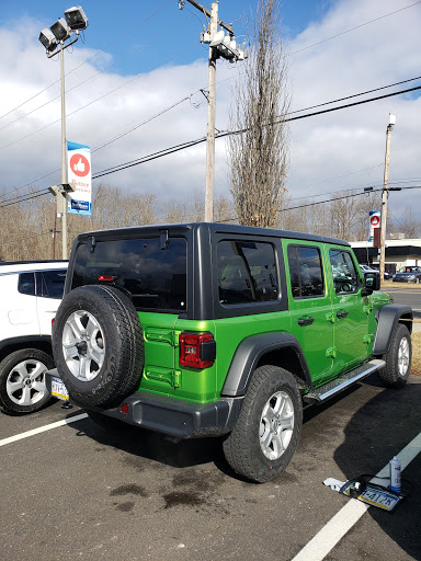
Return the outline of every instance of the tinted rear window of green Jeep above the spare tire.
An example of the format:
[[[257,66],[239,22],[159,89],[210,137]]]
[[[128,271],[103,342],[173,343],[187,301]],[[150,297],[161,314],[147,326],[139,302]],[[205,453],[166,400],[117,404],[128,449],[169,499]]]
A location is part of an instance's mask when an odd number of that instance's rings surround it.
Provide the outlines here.
[[[136,309],[186,309],[186,240],[98,240],[78,248],[71,288],[109,285],[129,293]]]

